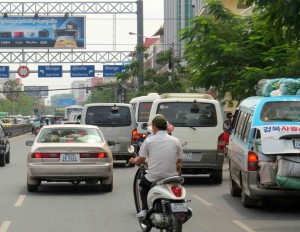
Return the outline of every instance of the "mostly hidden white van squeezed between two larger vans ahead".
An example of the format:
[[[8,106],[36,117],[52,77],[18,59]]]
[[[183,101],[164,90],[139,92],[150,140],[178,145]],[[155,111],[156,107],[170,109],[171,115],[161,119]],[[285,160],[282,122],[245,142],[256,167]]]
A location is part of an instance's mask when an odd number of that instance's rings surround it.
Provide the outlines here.
[[[143,129],[142,125],[148,122],[152,103],[157,98],[159,98],[159,94],[149,93],[146,96],[132,98],[129,102],[133,106],[137,122],[138,142],[143,142],[147,136],[147,130]]]

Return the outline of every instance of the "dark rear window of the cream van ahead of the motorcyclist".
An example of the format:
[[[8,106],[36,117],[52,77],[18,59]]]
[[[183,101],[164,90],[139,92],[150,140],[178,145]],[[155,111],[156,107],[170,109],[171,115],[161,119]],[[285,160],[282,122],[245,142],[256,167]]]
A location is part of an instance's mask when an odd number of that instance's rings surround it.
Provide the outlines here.
[[[214,104],[193,102],[164,102],[157,114],[164,115],[175,127],[215,127],[217,113]]]

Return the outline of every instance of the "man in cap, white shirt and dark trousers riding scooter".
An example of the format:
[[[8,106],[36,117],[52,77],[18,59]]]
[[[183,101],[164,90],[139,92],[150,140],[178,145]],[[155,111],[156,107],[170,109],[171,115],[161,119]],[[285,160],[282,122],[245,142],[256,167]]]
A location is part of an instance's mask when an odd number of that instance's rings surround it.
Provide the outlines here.
[[[181,166],[183,151],[179,139],[167,132],[167,119],[157,114],[152,120],[153,136],[143,142],[139,157],[129,160],[132,164],[142,164],[148,158],[148,173],[141,178],[142,210],[138,218],[145,218],[148,210],[147,194],[154,181],[178,175],[177,166]]]

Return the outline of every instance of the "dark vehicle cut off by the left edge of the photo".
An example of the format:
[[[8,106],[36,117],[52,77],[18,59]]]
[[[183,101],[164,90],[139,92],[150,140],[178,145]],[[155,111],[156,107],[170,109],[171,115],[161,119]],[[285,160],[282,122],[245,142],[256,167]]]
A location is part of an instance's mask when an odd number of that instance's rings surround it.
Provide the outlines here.
[[[8,136],[11,136],[11,132],[5,132],[2,125],[0,125],[0,167],[10,163],[10,142]]]

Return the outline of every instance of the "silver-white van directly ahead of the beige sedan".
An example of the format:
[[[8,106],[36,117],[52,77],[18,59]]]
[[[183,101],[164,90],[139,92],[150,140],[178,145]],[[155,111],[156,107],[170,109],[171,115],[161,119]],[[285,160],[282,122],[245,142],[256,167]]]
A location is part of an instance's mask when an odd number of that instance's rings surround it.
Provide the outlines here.
[[[133,156],[127,146],[137,143],[136,121],[131,104],[91,103],[83,107],[81,124],[96,125],[109,142],[114,160],[128,160]]]

